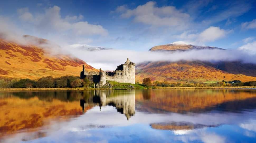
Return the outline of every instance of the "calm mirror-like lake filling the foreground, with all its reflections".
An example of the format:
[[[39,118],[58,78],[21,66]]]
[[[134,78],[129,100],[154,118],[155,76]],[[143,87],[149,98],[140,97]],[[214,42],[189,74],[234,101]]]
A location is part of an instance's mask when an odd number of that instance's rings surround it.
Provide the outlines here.
[[[0,92],[0,142],[256,142],[255,89]]]

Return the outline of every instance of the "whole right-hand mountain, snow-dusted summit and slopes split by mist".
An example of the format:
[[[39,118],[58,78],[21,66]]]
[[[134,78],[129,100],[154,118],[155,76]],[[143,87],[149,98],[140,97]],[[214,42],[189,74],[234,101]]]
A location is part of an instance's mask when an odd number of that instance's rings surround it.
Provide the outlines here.
[[[154,46],[150,51],[186,51],[203,49],[221,49],[209,46],[196,46],[184,42],[174,42],[167,45]],[[224,50],[224,49],[221,49]],[[149,77],[153,81],[168,82],[206,82],[206,81],[232,81],[242,82],[256,80],[256,64],[233,62],[207,62],[207,61],[157,61],[144,62],[136,65],[136,81]]]

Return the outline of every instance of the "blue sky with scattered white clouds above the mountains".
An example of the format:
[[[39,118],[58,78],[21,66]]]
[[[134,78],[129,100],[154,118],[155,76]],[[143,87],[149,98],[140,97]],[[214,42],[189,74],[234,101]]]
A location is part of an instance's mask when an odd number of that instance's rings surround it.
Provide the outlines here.
[[[256,1],[10,0],[1,2],[0,26],[60,45],[147,51],[184,41],[229,49],[255,42],[255,6]]]

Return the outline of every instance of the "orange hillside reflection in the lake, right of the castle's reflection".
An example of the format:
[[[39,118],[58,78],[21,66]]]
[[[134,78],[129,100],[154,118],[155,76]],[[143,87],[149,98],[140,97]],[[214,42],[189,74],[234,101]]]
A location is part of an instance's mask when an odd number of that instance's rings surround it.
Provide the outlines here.
[[[150,113],[240,112],[256,108],[256,90],[142,90],[135,100],[137,110]]]

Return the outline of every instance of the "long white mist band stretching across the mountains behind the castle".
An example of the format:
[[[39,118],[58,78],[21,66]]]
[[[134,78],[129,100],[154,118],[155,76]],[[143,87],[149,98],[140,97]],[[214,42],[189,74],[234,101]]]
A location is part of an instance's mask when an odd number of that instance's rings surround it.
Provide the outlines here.
[[[153,52],[109,49],[101,51],[88,51],[70,47],[68,44],[65,44],[65,42],[55,44],[54,42],[50,41],[51,39],[45,42],[45,39],[40,39],[33,36],[22,36],[21,34],[10,32],[8,29],[0,30],[0,38],[21,45],[36,45],[44,49],[47,49],[49,53],[52,55],[68,54],[73,57],[77,57],[81,60],[84,60],[94,68],[102,68],[103,70],[110,71],[115,70],[117,65],[124,63],[127,57],[129,57],[129,59],[136,64],[147,61],[175,62],[179,60],[199,60],[208,62],[241,61],[244,63],[256,64],[256,52],[254,50],[256,48],[254,48],[256,42],[253,42],[249,45],[244,45],[237,49],[227,50],[202,49],[176,52]]]

